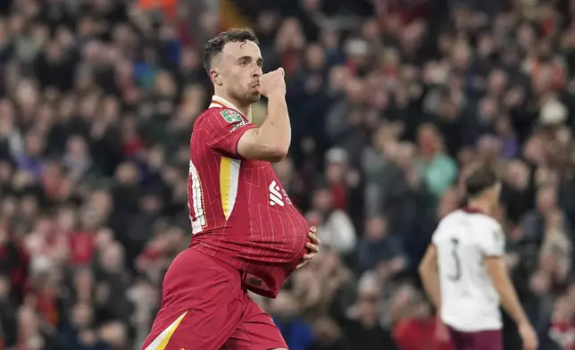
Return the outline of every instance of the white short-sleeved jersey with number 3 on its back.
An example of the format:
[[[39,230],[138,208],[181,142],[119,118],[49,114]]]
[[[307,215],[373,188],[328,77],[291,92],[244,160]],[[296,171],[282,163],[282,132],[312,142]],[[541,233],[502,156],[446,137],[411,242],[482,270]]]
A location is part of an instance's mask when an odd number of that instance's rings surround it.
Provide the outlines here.
[[[501,225],[483,213],[458,210],[439,222],[431,242],[437,249],[442,321],[464,332],[502,329],[499,296],[483,262],[504,254]]]

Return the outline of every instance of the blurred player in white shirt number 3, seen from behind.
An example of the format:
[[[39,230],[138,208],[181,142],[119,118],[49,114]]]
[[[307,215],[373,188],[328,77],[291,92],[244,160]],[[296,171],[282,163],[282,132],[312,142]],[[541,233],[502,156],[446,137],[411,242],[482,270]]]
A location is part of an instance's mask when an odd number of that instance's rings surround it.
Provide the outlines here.
[[[502,349],[500,303],[517,323],[524,349],[535,350],[537,335],[505,268],[504,231],[489,216],[501,184],[493,171],[481,168],[471,172],[465,187],[467,207],[439,222],[421,261],[423,286],[456,350]]]

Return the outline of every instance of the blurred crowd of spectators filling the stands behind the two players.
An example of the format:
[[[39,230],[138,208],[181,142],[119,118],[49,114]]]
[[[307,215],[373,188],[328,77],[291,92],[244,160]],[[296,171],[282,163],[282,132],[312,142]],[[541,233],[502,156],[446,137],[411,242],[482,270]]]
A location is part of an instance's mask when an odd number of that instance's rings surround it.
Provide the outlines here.
[[[202,46],[226,23],[153,3],[0,2],[0,349],[139,348],[189,243]],[[227,5],[264,71],[286,70],[275,170],[324,245],[254,296],[291,350],[451,349],[416,270],[477,162],[504,180],[505,261],[541,349],[575,349],[575,1]]]

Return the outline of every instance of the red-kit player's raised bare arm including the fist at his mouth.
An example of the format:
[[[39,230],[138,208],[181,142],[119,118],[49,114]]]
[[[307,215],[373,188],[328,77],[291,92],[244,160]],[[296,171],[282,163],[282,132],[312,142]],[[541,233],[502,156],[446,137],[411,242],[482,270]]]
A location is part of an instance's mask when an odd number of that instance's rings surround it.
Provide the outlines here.
[[[268,116],[262,126],[247,130],[239,138],[237,154],[248,159],[279,162],[291,143],[284,71],[280,68],[262,75],[260,91],[268,97]]]

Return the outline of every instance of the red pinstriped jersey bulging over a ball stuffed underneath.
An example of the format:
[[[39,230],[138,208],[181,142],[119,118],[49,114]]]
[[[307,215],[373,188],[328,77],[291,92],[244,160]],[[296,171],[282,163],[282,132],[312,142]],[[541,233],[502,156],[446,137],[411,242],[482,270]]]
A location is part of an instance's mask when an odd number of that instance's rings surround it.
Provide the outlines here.
[[[237,268],[247,289],[275,297],[306,252],[309,228],[270,162],[237,154],[237,141],[252,128],[218,96],[197,118],[187,182],[190,248]]]

